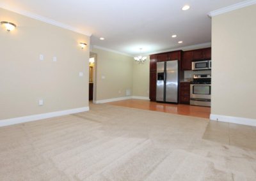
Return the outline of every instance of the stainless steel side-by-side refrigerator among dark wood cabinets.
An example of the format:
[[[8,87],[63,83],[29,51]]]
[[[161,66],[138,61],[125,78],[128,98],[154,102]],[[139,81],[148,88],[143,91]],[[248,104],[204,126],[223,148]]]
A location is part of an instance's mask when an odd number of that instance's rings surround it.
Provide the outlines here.
[[[156,101],[178,103],[179,61],[157,62]]]

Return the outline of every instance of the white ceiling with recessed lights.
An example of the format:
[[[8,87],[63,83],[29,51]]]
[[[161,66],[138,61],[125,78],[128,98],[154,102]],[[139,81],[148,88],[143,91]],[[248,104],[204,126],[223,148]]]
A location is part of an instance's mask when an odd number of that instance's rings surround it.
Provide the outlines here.
[[[211,18],[207,14],[242,1],[0,0],[0,3],[92,34],[92,45],[138,55],[140,48],[143,54],[150,54],[211,42]],[[191,6],[190,10],[181,10],[185,4]],[[178,37],[171,38],[172,34]],[[100,37],[105,40],[99,40]]]

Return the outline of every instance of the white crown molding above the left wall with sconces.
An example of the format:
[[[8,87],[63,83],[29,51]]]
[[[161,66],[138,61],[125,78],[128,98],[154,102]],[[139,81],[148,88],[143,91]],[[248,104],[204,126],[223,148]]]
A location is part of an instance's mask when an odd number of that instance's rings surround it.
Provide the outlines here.
[[[13,8],[13,7],[8,6],[7,4],[4,4],[4,3],[0,3],[0,8],[3,8],[4,10],[8,10],[8,11],[13,11],[14,13],[24,15],[25,17],[33,18],[35,20],[40,20],[41,22],[45,22],[47,24],[55,25],[55,26],[61,27],[63,29],[68,29],[68,30],[74,31],[76,33],[84,34],[86,36],[92,36],[92,33],[89,33],[89,32],[86,32],[86,31],[81,31],[80,29],[77,29],[76,27],[72,27],[70,25],[63,24],[61,22],[57,22],[57,21],[52,20],[50,18],[46,18],[46,17],[42,17],[40,15],[36,15],[35,13],[30,13],[28,11]]]

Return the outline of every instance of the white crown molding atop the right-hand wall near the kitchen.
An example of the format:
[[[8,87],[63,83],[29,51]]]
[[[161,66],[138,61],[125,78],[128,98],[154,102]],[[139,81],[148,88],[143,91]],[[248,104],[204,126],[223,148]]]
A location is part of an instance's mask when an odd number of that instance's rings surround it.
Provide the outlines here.
[[[227,6],[225,8],[221,8],[219,10],[211,11],[210,13],[208,13],[208,16],[209,17],[214,17],[216,15],[221,15],[223,13],[227,13],[227,12],[230,12],[230,11],[238,10],[240,8],[244,8],[246,6],[251,6],[253,4],[256,4],[256,0],[243,1],[241,3],[237,3],[237,4],[233,4],[231,6]]]

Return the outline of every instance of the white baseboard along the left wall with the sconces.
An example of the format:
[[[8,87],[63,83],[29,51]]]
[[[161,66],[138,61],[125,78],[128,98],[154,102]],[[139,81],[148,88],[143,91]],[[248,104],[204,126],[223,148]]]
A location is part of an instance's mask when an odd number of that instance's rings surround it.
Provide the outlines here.
[[[58,117],[61,115],[68,115],[72,113],[87,112],[88,110],[89,110],[89,107],[87,106],[87,107],[76,108],[72,110],[63,110],[59,112],[50,112],[50,113],[42,113],[42,114],[36,114],[36,115],[28,115],[25,117],[15,117],[12,119],[3,119],[3,120],[0,120],[0,127],[9,126],[12,124],[19,124],[23,122],[30,122],[30,121],[40,120],[40,119],[47,119],[51,117]]]

